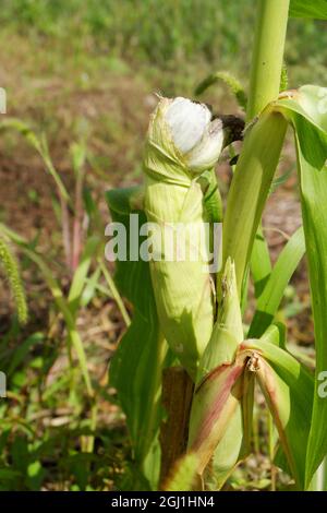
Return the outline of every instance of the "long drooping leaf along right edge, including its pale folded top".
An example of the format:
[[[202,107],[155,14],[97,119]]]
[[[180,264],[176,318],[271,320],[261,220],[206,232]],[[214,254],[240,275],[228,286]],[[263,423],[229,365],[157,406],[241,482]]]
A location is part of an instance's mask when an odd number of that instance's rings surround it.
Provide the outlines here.
[[[306,487],[327,454],[327,402],[318,394],[318,377],[327,369],[327,92],[301,87],[293,98],[278,103],[295,132],[302,217],[315,324],[316,385],[307,446]]]

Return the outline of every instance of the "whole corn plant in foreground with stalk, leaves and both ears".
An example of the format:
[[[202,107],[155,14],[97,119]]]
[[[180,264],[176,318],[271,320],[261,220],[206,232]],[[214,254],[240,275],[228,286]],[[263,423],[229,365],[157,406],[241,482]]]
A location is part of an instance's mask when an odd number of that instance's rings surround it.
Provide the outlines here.
[[[319,386],[327,370],[327,90],[287,90],[289,15],[326,20],[327,3],[258,0],[247,95],[226,72],[215,73],[197,90],[223,80],[245,110],[244,140],[225,210],[214,168],[223,147],[232,152],[239,130],[230,117],[213,117],[204,104],[185,98],[158,99],[145,144],[144,184],[107,194],[113,220],[128,230],[131,214],[140,225],[147,220],[160,227],[150,246],[161,259],[118,261],[116,274],[134,317],[110,380],[126,415],[136,489],[222,489],[251,452],[255,383],[277,432],[275,465],[296,489],[326,489],[327,402]],[[261,222],[289,127],[303,227],[272,269]],[[221,267],[213,273],[196,230],[221,220]],[[187,229],[192,222],[195,231]],[[184,226],[186,247],[195,246],[201,254],[196,261],[167,258],[164,227],[174,223]],[[130,244],[133,236],[131,230]],[[304,253],[315,375],[288,349],[286,326],[275,322]],[[245,330],[251,281],[256,310]]]

